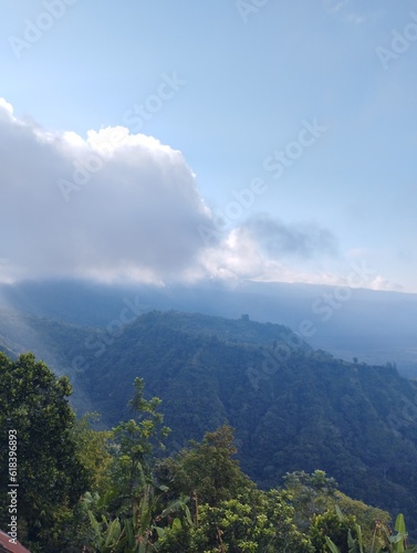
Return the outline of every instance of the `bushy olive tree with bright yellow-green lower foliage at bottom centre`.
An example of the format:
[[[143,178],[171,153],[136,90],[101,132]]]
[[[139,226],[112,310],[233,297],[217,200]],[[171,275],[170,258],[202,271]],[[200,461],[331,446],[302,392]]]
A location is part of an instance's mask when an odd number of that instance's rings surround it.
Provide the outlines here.
[[[191,522],[166,530],[159,551],[310,553],[310,540],[298,531],[286,495],[257,490],[233,459],[236,452],[233,430],[225,425],[159,465],[175,493],[191,497],[194,515]]]

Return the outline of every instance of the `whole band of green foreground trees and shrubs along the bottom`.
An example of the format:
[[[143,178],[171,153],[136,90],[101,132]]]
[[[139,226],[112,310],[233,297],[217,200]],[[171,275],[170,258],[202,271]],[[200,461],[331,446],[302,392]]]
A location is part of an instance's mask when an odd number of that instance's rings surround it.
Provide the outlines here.
[[[258,489],[234,458],[228,425],[175,456],[155,457],[169,429],[160,399],[145,399],[140,378],[131,418],[112,431],[93,430],[88,416],[76,421],[69,380],[33,354],[15,362],[0,354],[0,528],[10,521],[13,429],[18,535],[34,553],[347,552],[348,539],[374,547],[363,551],[404,551],[403,523],[392,535],[388,513],[350,499],[322,470]]]

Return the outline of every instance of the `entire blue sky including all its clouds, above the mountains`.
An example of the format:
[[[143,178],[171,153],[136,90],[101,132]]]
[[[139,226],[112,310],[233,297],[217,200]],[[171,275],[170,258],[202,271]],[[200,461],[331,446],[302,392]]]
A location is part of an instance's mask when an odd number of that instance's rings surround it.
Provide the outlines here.
[[[417,2],[3,0],[0,281],[417,293]]]

